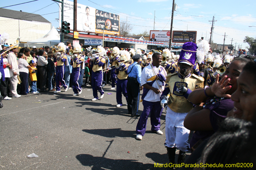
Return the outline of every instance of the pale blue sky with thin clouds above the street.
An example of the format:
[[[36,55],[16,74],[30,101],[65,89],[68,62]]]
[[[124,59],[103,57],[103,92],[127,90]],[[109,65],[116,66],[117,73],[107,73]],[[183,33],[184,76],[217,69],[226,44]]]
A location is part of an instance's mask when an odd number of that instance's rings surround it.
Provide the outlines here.
[[[31,0],[12,0],[1,3],[1,7],[14,4],[20,4]],[[73,0],[70,0],[73,1]],[[93,3],[95,2],[95,3]],[[118,14],[120,20],[127,21],[133,25],[131,33],[142,33],[143,31],[153,30],[154,26],[154,11],[156,11],[155,30],[170,30],[172,0],[130,0],[130,1],[89,1],[77,0],[78,4],[91,6],[93,8]],[[226,32],[225,44],[242,44],[242,48],[249,46],[243,43],[245,36],[256,37],[256,12],[255,0],[244,1],[188,1],[176,0],[178,5],[177,11],[174,12],[173,30],[197,31],[197,40],[202,34],[205,40],[210,38],[210,29],[212,17],[215,15],[213,41],[218,44],[223,44],[224,33]],[[52,5],[50,5],[52,4]],[[50,5],[42,10],[39,10],[47,5]],[[35,12],[35,14],[43,15],[44,18],[52,23],[52,26],[59,27],[59,6],[50,0],[38,0],[35,2],[7,7],[23,12]],[[39,10],[39,11],[37,11]],[[57,12],[53,14],[48,14]]]

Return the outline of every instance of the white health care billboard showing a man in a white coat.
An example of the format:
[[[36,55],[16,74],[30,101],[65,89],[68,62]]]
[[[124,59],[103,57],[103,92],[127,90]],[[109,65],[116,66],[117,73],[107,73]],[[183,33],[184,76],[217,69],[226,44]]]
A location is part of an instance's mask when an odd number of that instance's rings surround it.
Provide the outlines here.
[[[61,6],[61,4],[60,4]],[[64,21],[70,23],[70,29],[74,29],[74,2],[64,0]],[[59,25],[61,27],[61,11],[59,8]],[[77,4],[77,30],[95,32],[95,8]]]

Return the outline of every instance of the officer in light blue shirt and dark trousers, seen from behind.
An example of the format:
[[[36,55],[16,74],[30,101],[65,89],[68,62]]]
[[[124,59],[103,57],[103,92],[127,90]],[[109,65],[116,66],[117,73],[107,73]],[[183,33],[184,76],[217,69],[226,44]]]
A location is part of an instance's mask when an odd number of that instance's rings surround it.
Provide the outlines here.
[[[132,117],[140,116],[138,114],[139,99],[140,99],[140,77],[141,77],[141,66],[140,66],[140,55],[136,54],[132,57],[133,64],[128,67],[128,81],[127,81],[127,107],[128,114]]]

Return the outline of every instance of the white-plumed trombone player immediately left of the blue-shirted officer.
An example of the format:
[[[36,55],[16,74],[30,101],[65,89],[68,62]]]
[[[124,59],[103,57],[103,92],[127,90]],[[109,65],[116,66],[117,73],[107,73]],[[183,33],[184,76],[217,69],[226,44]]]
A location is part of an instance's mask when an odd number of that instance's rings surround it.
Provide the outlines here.
[[[131,54],[128,51],[122,50],[120,51],[120,62],[129,61],[131,59]],[[117,75],[117,83],[116,83],[116,107],[121,107],[122,103],[122,92],[127,102],[127,78],[128,73],[127,69],[130,66],[129,63],[120,63],[118,67],[116,67],[115,74]],[[126,104],[127,106],[127,104]]]

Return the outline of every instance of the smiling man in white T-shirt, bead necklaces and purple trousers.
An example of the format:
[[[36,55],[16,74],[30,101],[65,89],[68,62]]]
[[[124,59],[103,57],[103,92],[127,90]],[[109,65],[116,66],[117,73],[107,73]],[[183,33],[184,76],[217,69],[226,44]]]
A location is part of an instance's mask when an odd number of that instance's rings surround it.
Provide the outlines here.
[[[153,62],[145,67],[141,73],[143,112],[136,127],[136,139],[138,140],[141,140],[146,132],[149,113],[152,125],[151,130],[158,135],[163,135],[163,132],[160,130],[160,117],[163,111],[160,104],[160,97],[164,90],[166,71],[161,66],[161,62],[162,55],[160,53],[154,53]]]

